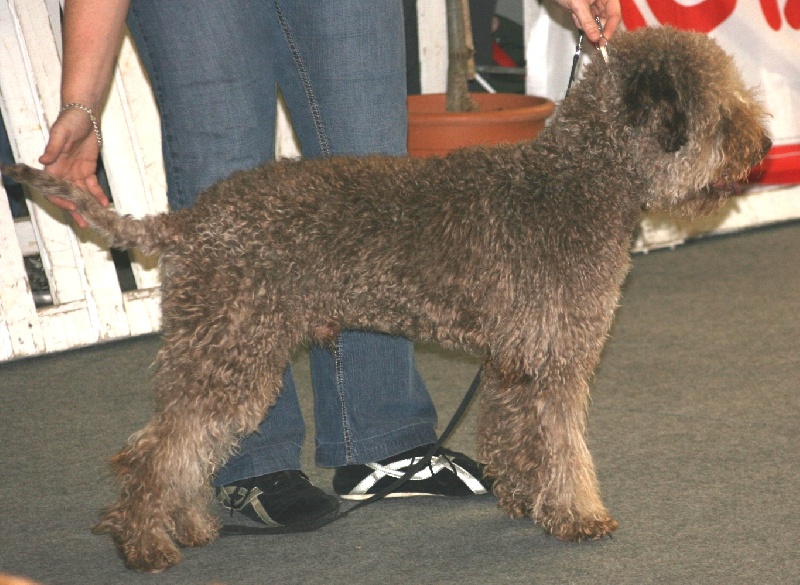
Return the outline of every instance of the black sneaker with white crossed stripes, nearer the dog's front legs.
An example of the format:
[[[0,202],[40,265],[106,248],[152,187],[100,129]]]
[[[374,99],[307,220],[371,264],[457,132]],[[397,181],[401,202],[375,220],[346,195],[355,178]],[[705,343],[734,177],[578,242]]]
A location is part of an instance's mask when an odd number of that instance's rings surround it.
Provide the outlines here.
[[[365,500],[401,477],[429,449],[430,445],[423,445],[377,463],[338,467],[333,475],[333,491],[346,500]],[[440,448],[430,465],[386,497],[477,496],[491,489],[491,481],[483,477],[483,465],[463,453]]]

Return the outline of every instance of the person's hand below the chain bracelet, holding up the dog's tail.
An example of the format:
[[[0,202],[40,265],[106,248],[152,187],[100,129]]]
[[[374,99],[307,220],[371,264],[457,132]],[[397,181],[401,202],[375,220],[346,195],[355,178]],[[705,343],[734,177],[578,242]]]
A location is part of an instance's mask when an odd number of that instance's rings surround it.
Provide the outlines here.
[[[97,182],[99,154],[100,147],[89,116],[78,109],[67,109],[59,114],[50,129],[50,140],[39,162],[45,171],[88,191],[105,207],[108,206],[108,197]],[[80,227],[88,225],[74,203],[57,197],[48,199],[53,205],[68,211]]]

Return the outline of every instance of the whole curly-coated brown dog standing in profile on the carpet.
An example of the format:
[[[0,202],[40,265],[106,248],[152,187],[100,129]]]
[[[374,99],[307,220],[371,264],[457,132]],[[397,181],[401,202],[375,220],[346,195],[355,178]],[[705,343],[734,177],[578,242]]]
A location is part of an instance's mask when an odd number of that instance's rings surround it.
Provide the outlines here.
[[[716,208],[769,148],[765,112],[709,38],[618,34],[531,142],[447,157],[283,161],[134,219],[41,171],[111,245],[161,256],[157,414],[112,460],[98,529],[159,571],[218,534],[209,478],[303,342],[342,328],[484,359],[478,454],[500,507],[564,540],[617,522],[585,442],[588,379],[643,208]]]

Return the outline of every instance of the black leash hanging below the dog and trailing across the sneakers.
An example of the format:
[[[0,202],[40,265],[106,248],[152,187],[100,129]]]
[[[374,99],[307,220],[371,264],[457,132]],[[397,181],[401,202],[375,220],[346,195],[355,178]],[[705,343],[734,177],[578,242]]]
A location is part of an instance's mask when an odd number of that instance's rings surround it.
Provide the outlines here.
[[[280,534],[280,533],[291,533],[291,532],[310,532],[312,530],[317,530],[318,528],[322,528],[323,526],[327,526],[332,522],[336,522],[337,520],[341,520],[342,518],[346,517],[351,512],[358,510],[359,508],[363,508],[364,506],[368,506],[369,504],[375,503],[378,500],[382,500],[397,488],[402,486],[406,483],[409,479],[414,477],[414,475],[423,469],[425,469],[428,465],[431,464],[431,459],[436,452],[444,445],[447,439],[450,438],[450,435],[453,434],[456,426],[458,426],[459,421],[464,416],[464,413],[467,410],[470,402],[475,397],[475,394],[478,392],[478,387],[480,386],[481,382],[481,372],[483,371],[483,367],[478,370],[478,373],[475,374],[475,378],[472,380],[472,384],[470,384],[467,393],[464,395],[464,398],[461,400],[461,404],[458,405],[455,413],[453,413],[453,417],[450,419],[450,422],[447,423],[447,428],[445,428],[444,432],[439,436],[439,439],[434,443],[428,452],[420,459],[414,463],[413,465],[409,466],[409,468],[405,471],[402,477],[398,477],[395,479],[391,485],[386,486],[384,489],[379,491],[376,494],[373,494],[366,500],[361,500],[357,504],[351,506],[344,512],[339,512],[338,514],[334,514],[332,516],[328,516],[326,518],[318,519],[314,522],[308,522],[305,524],[295,524],[291,528],[286,528],[284,530],[276,529],[274,527],[268,526],[247,526],[243,524],[225,524],[222,526],[220,530],[220,536],[249,536],[249,535],[258,535],[258,534]]]

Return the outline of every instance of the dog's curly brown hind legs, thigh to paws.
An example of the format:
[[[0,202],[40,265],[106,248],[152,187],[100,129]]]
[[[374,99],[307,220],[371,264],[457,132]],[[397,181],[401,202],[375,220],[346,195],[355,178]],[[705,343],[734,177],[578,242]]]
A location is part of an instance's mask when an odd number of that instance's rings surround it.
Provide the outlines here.
[[[130,568],[163,570],[180,561],[178,546],[217,535],[210,478],[274,402],[290,353],[272,351],[277,342],[252,321],[218,315],[193,324],[191,335],[167,322],[157,414],[112,459],[120,497],[95,527],[112,535]]]

